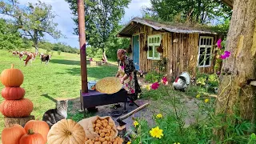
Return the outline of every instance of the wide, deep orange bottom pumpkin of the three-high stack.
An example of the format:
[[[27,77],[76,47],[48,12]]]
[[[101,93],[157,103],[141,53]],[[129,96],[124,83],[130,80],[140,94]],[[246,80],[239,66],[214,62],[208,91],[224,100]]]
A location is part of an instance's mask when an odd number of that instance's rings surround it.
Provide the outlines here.
[[[33,103],[30,99],[4,100],[0,104],[2,115],[10,118],[27,117],[33,111]]]

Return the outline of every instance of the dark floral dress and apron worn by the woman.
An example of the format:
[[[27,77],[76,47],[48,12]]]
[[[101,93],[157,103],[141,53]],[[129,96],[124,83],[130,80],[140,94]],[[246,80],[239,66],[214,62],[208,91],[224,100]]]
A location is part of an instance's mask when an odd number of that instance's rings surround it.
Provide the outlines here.
[[[138,79],[133,60],[129,57],[126,57],[124,62],[119,61],[118,74],[120,74],[120,79],[125,74],[127,74],[128,78],[124,81],[124,89],[127,90],[127,93],[131,98],[136,100],[138,98],[138,94],[141,93],[142,90],[138,85]]]

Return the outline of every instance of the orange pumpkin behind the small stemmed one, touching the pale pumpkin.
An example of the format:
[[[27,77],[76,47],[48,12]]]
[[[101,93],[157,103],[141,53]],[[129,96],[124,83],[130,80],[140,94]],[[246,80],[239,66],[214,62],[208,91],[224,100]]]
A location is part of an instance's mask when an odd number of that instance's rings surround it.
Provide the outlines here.
[[[47,134],[50,130],[50,127],[46,122],[40,121],[40,120],[30,120],[29,122],[26,122],[24,129],[26,130],[26,132],[28,132],[28,130],[31,129],[35,133],[42,134],[42,137],[44,138],[45,143],[47,142]]]

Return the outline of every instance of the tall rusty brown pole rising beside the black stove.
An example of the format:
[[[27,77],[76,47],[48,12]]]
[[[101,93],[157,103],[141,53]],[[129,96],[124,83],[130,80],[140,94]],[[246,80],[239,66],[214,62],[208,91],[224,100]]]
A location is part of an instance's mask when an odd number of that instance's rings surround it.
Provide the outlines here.
[[[84,6],[83,0],[78,0],[78,29],[79,29],[79,44],[80,44],[82,93],[88,93],[87,68],[86,68],[86,22],[85,22],[85,6]]]

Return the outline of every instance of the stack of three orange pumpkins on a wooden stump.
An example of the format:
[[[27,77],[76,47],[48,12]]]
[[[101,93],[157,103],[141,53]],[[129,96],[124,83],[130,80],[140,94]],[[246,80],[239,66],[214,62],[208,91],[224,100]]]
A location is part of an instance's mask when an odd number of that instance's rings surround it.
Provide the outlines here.
[[[2,97],[5,100],[0,104],[1,113],[9,118],[24,118],[33,111],[33,103],[30,99],[24,98],[25,90],[20,87],[24,80],[21,70],[14,69],[14,64],[10,69],[3,70],[1,82],[5,88],[2,89]]]

